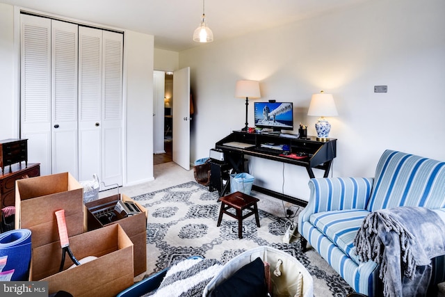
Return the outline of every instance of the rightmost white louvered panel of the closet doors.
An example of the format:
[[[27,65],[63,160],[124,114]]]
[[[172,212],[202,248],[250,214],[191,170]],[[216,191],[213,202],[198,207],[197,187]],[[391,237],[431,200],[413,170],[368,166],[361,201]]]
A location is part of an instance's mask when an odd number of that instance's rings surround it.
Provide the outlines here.
[[[123,35],[103,32],[102,181],[122,185]]]

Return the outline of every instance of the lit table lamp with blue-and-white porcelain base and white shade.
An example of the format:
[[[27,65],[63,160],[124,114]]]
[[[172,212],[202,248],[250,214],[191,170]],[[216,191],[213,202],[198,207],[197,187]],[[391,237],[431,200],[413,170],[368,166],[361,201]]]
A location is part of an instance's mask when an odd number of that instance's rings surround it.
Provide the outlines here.
[[[327,141],[331,125],[325,119],[325,116],[337,116],[337,108],[335,107],[334,97],[332,94],[325,94],[323,90],[312,95],[311,104],[309,104],[309,111],[307,115],[319,116],[321,118],[315,124],[317,131],[317,141]]]

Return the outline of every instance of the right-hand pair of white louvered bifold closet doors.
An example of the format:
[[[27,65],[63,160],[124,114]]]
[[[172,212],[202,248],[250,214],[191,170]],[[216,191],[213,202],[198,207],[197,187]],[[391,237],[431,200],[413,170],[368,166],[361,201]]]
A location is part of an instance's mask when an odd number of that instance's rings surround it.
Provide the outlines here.
[[[122,185],[123,35],[79,26],[79,179]]]

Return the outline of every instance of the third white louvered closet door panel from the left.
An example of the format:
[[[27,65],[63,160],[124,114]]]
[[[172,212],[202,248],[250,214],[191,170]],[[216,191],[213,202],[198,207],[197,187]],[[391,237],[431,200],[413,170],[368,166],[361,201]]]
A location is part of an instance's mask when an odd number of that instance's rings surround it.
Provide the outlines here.
[[[102,30],[79,26],[79,179],[102,180]]]

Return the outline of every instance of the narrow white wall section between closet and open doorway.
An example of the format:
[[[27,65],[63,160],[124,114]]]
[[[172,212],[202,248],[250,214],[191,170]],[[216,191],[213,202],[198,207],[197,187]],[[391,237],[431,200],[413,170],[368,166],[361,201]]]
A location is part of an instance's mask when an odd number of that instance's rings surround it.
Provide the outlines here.
[[[153,177],[154,37],[125,31],[127,65],[127,185]]]

